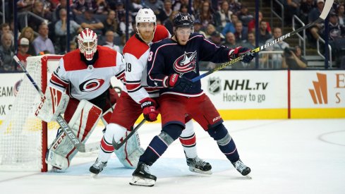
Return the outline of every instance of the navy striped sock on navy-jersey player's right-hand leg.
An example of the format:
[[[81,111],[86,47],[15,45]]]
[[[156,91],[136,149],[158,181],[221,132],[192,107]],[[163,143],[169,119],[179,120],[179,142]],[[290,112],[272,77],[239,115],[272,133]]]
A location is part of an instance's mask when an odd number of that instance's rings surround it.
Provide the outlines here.
[[[207,132],[214,140],[217,141],[219,149],[225,154],[231,163],[240,159],[235,142],[222,123],[214,128],[210,128]]]

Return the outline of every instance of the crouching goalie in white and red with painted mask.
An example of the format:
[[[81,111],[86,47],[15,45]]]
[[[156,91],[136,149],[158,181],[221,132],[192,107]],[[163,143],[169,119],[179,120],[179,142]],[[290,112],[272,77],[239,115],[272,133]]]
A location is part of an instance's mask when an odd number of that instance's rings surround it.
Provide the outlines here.
[[[97,35],[85,29],[78,35],[78,49],[64,55],[52,74],[36,115],[43,121],[56,121],[63,114],[75,135],[85,143],[99,119],[109,121],[119,98],[110,79],[123,80],[123,56],[107,47],[97,46]],[[104,112],[104,114],[102,114]],[[77,150],[65,133],[56,135],[47,152],[47,164],[67,169]]]

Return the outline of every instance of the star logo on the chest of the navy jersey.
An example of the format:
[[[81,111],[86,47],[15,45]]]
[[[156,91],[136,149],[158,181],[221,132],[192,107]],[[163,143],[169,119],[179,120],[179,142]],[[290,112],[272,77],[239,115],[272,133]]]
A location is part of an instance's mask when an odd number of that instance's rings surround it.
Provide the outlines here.
[[[176,59],[174,62],[174,70],[180,75],[183,73],[188,73],[190,71],[196,71],[196,51],[194,52],[184,52],[184,54]]]

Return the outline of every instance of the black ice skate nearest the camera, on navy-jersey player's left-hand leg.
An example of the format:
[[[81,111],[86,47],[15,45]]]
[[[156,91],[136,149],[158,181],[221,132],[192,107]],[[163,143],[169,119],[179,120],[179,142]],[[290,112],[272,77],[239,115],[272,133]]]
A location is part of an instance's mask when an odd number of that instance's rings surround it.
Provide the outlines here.
[[[150,174],[149,165],[139,162],[137,168],[133,172],[131,186],[154,186],[157,177]]]

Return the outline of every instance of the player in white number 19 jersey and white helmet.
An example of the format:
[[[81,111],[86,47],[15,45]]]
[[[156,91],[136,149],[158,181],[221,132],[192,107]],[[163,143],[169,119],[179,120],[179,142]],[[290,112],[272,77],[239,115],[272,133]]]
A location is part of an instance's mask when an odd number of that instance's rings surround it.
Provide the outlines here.
[[[121,138],[126,136],[126,131],[144,114],[147,121],[156,121],[158,111],[155,97],[158,97],[158,90],[147,87],[147,59],[150,58],[150,45],[152,42],[171,37],[167,28],[163,25],[156,25],[155,13],[150,8],[142,8],[135,17],[136,35],[133,35],[123,48],[123,56],[126,61],[125,87],[116,103],[116,109],[111,115],[111,120],[101,141],[101,149],[98,158],[90,167],[93,174],[99,174],[110,157],[114,147],[112,140],[119,143]],[[133,138],[130,138],[130,141]],[[211,174],[212,166],[198,157],[195,147],[195,133],[193,121],[186,117],[186,129],[180,135],[180,141],[186,154],[187,164],[190,171]],[[128,143],[131,144],[131,143]],[[124,146],[123,146],[124,147]],[[134,146],[132,146],[134,147]],[[124,158],[128,166],[135,167],[138,164],[143,148],[139,148],[132,154],[126,154]]]

